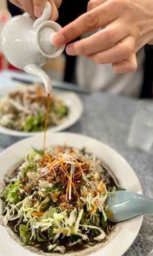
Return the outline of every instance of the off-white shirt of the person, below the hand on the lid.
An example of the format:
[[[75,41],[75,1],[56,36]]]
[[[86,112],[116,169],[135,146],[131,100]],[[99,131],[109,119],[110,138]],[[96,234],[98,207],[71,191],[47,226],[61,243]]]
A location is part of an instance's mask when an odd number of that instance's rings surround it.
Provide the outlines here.
[[[88,33],[83,37],[91,35]],[[138,97],[142,87],[144,75],[144,49],[137,53],[138,68],[133,73],[117,74],[111,64],[100,65],[85,56],[77,57],[77,84],[90,89],[103,89],[111,94],[124,94]]]

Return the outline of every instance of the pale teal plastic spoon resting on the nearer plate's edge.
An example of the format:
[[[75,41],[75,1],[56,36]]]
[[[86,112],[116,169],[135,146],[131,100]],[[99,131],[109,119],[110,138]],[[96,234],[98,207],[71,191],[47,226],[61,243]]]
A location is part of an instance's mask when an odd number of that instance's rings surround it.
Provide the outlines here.
[[[153,213],[153,199],[129,191],[115,191],[106,204],[113,212],[112,222],[131,219],[141,214]]]

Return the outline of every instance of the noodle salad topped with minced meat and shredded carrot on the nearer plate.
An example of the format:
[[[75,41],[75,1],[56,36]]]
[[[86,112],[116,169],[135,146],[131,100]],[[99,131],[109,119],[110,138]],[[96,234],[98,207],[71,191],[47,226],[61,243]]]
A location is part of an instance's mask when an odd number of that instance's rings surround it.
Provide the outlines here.
[[[3,225],[14,223],[23,244],[65,253],[78,243],[94,245],[109,235],[107,197],[115,187],[94,155],[53,146],[43,155],[35,148],[8,181]]]

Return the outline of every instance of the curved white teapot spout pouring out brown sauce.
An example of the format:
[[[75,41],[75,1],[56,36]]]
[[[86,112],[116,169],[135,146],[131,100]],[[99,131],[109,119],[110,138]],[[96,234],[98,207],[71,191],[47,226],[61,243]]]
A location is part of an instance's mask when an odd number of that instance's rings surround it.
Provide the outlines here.
[[[25,66],[24,71],[42,79],[47,94],[52,93],[53,84],[48,75],[41,69],[38,64],[29,64]]]

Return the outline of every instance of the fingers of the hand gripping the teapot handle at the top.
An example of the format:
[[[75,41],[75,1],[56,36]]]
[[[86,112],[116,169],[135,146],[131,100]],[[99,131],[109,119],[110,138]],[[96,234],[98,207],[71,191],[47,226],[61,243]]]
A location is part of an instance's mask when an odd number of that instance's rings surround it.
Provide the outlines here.
[[[60,7],[62,0],[48,0],[52,5],[51,20],[58,19],[58,8]],[[43,12],[46,4],[46,0],[10,0],[10,2],[20,9],[28,12],[33,18],[39,18]]]

